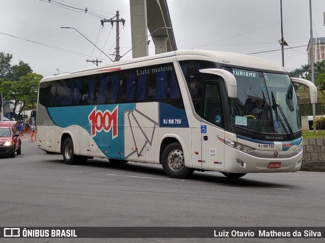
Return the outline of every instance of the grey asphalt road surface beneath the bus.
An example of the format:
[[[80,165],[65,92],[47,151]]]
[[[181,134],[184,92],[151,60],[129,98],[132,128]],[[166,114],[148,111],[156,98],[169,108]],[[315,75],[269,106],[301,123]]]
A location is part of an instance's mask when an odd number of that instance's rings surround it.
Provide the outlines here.
[[[190,179],[172,179],[164,174],[161,166],[142,163],[112,165],[107,159],[96,158],[85,165],[67,166],[61,154],[46,154],[30,142],[30,137],[22,139],[21,155],[0,158],[3,227],[325,226],[325,173],[248,174],[231,180],[216,172],[194,172]],[[69,239],[69,242],[148,240]],[[17,241],[6,238],[4,242]],[[18,242],[67,241],[19,239]],[[321,240],[174,238],[154,241]]]

